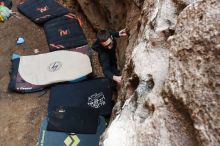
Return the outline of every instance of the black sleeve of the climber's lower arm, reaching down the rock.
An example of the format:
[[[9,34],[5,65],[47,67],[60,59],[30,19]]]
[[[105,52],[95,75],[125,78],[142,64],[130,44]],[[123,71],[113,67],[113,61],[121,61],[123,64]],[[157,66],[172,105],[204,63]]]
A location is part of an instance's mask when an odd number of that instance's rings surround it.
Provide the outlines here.
[[[104,75],[108,79],[112,80],[114,74],[111,72],[109,56],[104,52],[100,53],[100,63],[101,63]]]

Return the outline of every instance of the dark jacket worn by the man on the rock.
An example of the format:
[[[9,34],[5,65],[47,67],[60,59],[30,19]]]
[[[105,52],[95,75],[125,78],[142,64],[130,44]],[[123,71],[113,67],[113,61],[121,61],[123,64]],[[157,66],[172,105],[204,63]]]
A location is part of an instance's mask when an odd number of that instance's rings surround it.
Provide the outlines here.
[[[119,32],[110,32],[113,38],[113,47],[112,49],[106,49],[103,47],[98,40],[96,40],[93,45],[92,49],[98,52],[99,62],[102,66],[102,70],[104,75],[111,79],[113,75],[119,75],[119,71],[117,69],[117,58],[116,58],[116,38],[119,37]]]

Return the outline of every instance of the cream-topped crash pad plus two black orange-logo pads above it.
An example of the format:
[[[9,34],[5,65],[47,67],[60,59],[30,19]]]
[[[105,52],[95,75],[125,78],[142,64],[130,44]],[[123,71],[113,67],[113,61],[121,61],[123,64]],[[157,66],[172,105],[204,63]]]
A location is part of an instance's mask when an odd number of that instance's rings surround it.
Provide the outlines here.
[[[10,90],[39,91],[58,82],[80,81],[92,72],[87,39],[76,15],[54,0],[26,0],[18,10],[44,26],[50,51],[59,52],[12,57]]]

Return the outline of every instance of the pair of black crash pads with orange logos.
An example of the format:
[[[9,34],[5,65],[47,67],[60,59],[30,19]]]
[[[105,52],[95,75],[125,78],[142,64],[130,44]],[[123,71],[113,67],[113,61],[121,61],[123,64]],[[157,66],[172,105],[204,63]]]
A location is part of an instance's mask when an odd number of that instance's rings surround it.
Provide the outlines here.
[[[88,42],[80,18],[54,0],[26,0],[18,10],[44,26],[50,51],[72,50],[88,54]]]

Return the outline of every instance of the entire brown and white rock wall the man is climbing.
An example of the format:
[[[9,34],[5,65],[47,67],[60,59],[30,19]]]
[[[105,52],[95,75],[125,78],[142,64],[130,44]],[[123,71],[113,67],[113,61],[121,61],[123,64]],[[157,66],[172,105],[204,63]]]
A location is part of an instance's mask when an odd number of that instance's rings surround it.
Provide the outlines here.
[[[220,1],[78,3],[95,30],[130,30],[119,41],[123,84],[101,145],[220,145]]]

